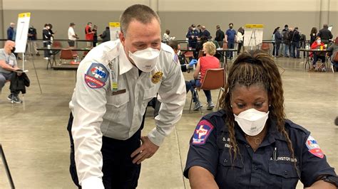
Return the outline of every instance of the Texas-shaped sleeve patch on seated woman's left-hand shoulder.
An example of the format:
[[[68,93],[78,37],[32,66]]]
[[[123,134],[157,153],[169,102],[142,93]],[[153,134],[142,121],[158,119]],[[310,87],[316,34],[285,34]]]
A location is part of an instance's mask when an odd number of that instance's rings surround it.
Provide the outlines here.
[[[212,124],[210,124],[209,121],[207,120],[200,121],[194,131],[193,141],[191,142],[191,144],[195,145],[205,144],[212,129],[214,129],[214,126],[212,126]]]

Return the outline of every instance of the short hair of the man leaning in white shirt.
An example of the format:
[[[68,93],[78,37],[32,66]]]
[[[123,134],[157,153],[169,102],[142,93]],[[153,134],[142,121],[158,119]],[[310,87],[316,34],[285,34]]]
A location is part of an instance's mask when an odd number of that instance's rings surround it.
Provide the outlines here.
[[[143,4],[134,4],[129,6],[125,11],[123,11],[120,17],[121,32],[124,34],[127,33],[128,26],[131,21],[135,20],[146,24],[151,23],[153,18],[160,23],[160,17],[149,6],[145,6]]]

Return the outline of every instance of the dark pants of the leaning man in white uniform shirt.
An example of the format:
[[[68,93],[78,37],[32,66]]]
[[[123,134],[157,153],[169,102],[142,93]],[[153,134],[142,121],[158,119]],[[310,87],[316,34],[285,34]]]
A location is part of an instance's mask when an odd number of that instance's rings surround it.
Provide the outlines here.
[[[146,112],[146,111],[145,111]],[[134,164],[130,154],[140,147],[140,134],[144,126],[143,115],[140,129],[129,139],[117,140],[106,136],[102,137],[101,153],[103,156],[103,185],[108,188],[136,188],[138,186],[138,178],[140,175],[140,164]],[[74,143],[71,136],[71,126],[73,124],[73,115],[71,114],[68,121],[67,130],[71,139],[71,166],[69,171],[73,182],[78,184],[78,175],[76,173],[76,164],[74,159]]]

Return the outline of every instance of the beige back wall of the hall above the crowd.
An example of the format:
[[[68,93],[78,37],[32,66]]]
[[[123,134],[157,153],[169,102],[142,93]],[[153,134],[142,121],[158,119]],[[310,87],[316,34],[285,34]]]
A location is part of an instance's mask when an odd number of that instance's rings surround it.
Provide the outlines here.
[[[312,27],[322,28],[321,10],[329,11],[327,23],[333,25],[334,35],[338,35],[338,0],[2,0],[4,23],[1,31],[6,31],[10,22],[16,22],[17,13],[31,11],[31,23],[42,28],[44,23],[53,23],[58,38],[66,38],[70,22],[82,28],[87,21],[104,28],[108,21],[118,21],[119,15],[132,4],[146,4],[157,10],[162,20],[162,30],[171,30],[178,39],[185,38],[191,23],[205,25],[212,36],[215,26],[222,29],[235,23],[235,28],[245,23],[265,24],[265,39],[271,38],[275,27],[289,24],[298,26],[307,36]],[[329,2],[329,10],[321,7],[321,1]],[[102,30],[99,28],[99,30]],[[100,31],[101,32],[101,31]],[[39,34],[38,34],[39,36]],[[83,36],[83,35],[81,35]]]

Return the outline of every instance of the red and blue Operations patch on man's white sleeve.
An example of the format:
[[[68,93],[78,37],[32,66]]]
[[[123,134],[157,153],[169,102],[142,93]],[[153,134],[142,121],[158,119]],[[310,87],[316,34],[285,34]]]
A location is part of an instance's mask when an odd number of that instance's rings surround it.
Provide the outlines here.
[[[100,63],[92,63],[85,74],[85,82],[88,87],[98,89],[106,85],[109,72],[107,68]]]

